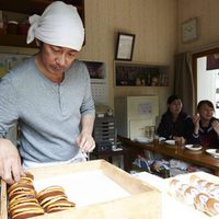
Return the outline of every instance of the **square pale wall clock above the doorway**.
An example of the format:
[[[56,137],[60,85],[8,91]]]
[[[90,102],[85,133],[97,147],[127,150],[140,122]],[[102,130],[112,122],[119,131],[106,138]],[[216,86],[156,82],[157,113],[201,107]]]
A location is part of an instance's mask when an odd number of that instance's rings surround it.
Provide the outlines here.
[[[187,43],[198,37],[197,18],[191,19],[182,24],[182,41]]]

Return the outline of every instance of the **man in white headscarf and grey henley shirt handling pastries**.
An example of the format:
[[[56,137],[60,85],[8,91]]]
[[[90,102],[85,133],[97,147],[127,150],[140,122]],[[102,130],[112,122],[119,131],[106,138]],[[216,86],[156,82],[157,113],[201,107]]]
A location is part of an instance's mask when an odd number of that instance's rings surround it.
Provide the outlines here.
[[[0,82],[0,176],[12,184],[23,168],[84,161],[94,149],[94,104],[85,66],[77,60],[84,28],[77,9],[61,1],[30,18],[27,43],[39,53]],[[19,149],[4,139],[19,123]]]

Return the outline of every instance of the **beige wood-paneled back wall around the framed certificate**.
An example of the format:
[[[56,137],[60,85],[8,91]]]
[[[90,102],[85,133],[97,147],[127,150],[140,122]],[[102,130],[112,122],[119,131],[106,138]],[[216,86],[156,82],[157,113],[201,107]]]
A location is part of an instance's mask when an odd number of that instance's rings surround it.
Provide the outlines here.
[[[177,43],[176,8],[175,0],[85,0],[87,44],[80,57],[106,62],[111,106],[115,96],[155,94],[160,112],[165,110]],[[169,88],[114,87],[117,32],[136,34],[132,61],[170,65]]]

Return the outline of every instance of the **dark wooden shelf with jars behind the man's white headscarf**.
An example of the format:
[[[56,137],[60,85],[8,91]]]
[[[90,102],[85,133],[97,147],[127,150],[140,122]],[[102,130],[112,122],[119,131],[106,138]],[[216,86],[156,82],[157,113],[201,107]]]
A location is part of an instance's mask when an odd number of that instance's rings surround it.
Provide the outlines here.
[[[26,44],[30,26],[27,18],[32,14],[42,14],[51,2],[53,0],[1,0],[0,46],[36,47],[35,43]],[[84,0],[64,0],[64,2],[77,7],[84,23]]]

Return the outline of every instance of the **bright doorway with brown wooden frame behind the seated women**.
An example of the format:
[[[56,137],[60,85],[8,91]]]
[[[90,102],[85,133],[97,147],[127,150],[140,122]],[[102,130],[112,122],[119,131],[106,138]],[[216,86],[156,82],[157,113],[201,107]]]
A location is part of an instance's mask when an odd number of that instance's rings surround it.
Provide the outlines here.
[[[219,67],[214,66],[211,58],[219,65],[219,47],[193,54],[193,77],[195,88],[195,105],[200,100],[212,102],[219,118]]]

